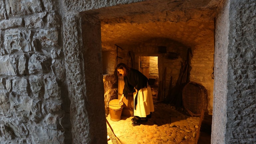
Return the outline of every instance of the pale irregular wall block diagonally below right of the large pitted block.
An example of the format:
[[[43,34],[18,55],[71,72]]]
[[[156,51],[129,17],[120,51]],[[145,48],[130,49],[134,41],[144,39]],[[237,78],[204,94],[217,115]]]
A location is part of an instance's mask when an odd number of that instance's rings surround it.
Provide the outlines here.
[[[30,74],[42,73],[43,63],[46,61],[47,57],[40,54],[33,54],[29,59],[28,70]]]

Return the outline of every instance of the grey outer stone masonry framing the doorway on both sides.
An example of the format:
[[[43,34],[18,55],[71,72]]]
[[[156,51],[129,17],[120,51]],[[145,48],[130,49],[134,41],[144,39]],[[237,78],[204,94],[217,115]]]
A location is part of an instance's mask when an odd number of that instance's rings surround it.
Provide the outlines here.
[[[0,0],[1,144],[107,142],[100,21],[83,12],[141,1]],[[220,1],[212,143],[255,143],[255,0]]]

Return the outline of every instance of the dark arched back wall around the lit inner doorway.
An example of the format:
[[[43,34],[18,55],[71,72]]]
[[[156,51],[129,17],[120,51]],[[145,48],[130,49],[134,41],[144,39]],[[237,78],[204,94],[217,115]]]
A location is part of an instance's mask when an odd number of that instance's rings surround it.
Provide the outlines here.
[[[166,53],[161,53],[158,46],[166,46]],[[187,58],[188,46],[183,45],[177,41],[165,38],[150,39],[148,41],[141,42],[139,45],[127,46],[130,47],[136,56],[158,56],[158,71],[159,71],[159,84],[165,81],[165,89],[167,97],[170,86],[171,76],[172,86],[176,85],[180,74],[181,62]],[[177,57],[173,57],[170,54],[177,54]],[[138,63],[135,59],[135,63]],[[138,68],[138,67],[135,67]],[[165,80],[163,78],[164,71],[166,69]],[[164,84],[162,84],[164,85]],[[164,88],[163,88],[164,89]],[[159,91],[161,91],[159,89]],[[159,97],[160,100],[164,100],[164,94]]]

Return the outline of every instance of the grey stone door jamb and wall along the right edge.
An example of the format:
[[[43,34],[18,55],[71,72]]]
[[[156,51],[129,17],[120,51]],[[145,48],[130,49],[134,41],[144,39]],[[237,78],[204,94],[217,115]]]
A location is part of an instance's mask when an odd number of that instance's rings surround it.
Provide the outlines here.
[[[225,0],[216,21],[212,143],[255,143],[255,1]]]

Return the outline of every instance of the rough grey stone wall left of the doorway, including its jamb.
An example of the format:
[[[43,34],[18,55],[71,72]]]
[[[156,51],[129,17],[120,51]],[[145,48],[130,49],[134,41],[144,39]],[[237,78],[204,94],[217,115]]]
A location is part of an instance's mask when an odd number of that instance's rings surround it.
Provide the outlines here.
[[[66,2],[0,1],[1,143],[106,142],[99,21]]]

